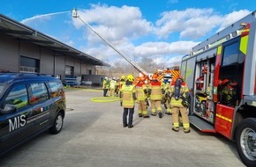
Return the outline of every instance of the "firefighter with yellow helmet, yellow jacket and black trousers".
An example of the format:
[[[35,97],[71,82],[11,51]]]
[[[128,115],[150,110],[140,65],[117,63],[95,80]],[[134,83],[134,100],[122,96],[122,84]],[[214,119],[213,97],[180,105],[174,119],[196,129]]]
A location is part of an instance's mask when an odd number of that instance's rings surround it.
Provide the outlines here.
[[[134,77],[132,75],[128,75],[125,84],[122,86],[120,91],[120,98],[123,100],[123,127],[132,128],[132,120],[134,113],[134,105],[136,97],[136,87],[133,85]],[[127,115],[129,113],[128,123],[127,123]]]

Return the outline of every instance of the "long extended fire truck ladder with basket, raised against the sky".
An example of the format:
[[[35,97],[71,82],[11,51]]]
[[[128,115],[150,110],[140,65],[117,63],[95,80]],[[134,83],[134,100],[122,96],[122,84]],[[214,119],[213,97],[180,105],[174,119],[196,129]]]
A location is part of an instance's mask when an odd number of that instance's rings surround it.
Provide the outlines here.
[[[85,22],[84,20],[82,20],[82,19],[79,17],[78,12],[77,12],[76,9],[73,9],[73,11],[72,11],[72,17],[73,17],[73,18],[79,18],[79,20],[80,20],[81,22],[83,22],[85,25],[87,25],[96,35],[98,35],[104,42],[106,42],[106,43],[109,45],[109,47],[112,47],[112,48],[113,48],[118,54],[120,54],[127,62],[130,62],[130,63],[132,64],[132,66],[133,66],[135,69],[137,69],[139,72],[141,72],[144,76],[149,76],[149,74],[147,73],[146,70],[144,70],[144,69],[142,69],[141,67],[139,67],[139,65],[138,65],[136,62],[132,62],[132,60],[130,60],[126,54],[124,54],[123,52],[119,51],[119,50],[117,49],[117,47],[115,47],[114,45],[112,45],[112,44],[109,42],[109,40],[104,39],[104,38],[102,37],[102,35],[101,35],[100,33],[97,33],[91,25],[89,25],[87,22]]]

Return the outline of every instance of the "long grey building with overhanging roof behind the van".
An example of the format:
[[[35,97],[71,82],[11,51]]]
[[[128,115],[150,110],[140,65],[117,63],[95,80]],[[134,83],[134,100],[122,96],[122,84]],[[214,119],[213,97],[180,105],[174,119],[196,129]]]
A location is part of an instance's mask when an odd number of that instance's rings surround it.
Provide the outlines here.
[[[0,71],[65,77],[95,75],[109,66],[93,56],[0,14]]]

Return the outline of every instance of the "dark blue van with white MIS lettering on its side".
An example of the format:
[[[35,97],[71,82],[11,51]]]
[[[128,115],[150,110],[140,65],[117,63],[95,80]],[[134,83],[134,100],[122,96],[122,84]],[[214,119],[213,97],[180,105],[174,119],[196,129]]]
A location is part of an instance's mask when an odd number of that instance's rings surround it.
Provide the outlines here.
[[[0,155],[36,134],[63,127],[65,94],[54,76],[0,73]]]

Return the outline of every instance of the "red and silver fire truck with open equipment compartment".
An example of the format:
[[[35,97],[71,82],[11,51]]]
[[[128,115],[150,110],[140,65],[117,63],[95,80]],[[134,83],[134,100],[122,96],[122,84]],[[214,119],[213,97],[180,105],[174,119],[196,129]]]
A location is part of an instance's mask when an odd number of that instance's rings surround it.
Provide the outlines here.
[[[256,166],[256,16],[250,15],[192,47],[181,76],[191,89],[190,122],[202,132],[236,141]]]

